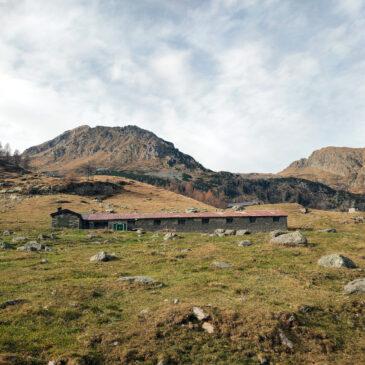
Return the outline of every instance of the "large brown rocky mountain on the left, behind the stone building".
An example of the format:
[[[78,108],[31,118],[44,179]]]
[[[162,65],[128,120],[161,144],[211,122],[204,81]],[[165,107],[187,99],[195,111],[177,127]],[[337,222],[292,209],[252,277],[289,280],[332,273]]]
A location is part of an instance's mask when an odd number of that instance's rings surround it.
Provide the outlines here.
[[[89,164],[94,168],[136,171],[205,171],[192,157],[181,153],[170,142],[136,126],[82,126],[67,131],[24,156],[34,168],[68,171]]]

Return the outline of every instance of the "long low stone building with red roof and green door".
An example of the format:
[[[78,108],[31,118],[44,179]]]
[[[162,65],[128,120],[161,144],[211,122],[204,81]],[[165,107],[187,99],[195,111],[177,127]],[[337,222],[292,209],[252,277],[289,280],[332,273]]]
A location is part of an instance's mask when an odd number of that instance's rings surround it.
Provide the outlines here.
[[[51,214],[53,228],[112,229],[115,231],[173,230],[177,232],[212,232],[217,228],[247,229],[267,232],[287,229],[287,214],[281,211],[148,213],[148,214],[80,214],[58,208]]]

